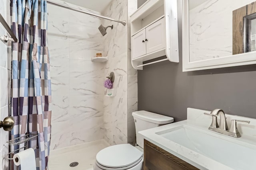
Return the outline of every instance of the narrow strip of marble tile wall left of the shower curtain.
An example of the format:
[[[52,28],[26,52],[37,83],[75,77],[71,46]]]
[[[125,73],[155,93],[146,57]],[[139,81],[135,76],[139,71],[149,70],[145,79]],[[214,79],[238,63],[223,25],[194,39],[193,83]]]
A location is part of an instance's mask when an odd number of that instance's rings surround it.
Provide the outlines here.
[[[0,14],[7,23],[10,22],[10,0],[0,1]],[[9,25],[10,26],[10,25]],[[0,36],[7,35],[6,30],[0,24]],[[10,113],[10,77],[11,77],[11,43],[0,41],[0,120],[3,120]],[[9,161],[5,158],[8,154],[9,132],[0,129],[0,170],[9,169]]]

